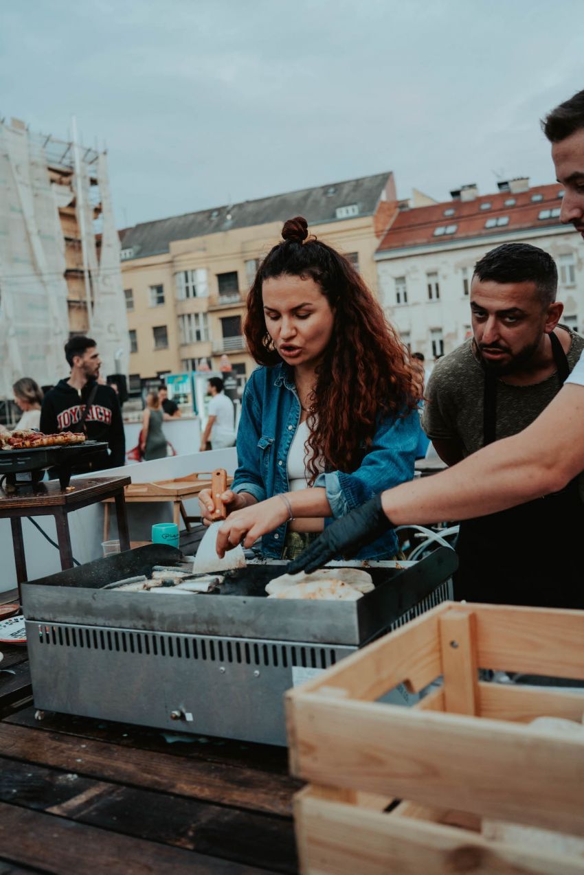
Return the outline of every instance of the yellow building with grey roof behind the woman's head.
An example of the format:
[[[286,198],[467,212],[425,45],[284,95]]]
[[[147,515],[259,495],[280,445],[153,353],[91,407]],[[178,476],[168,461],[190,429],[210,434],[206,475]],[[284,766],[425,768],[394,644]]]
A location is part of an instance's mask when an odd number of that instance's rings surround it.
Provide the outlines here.
[[[373,256],[396,212],[387,172],[124,229],[130,390],[144,379],[196,370],[201,360],[218,370],[222,356],[236,373],[250,374],[245,297],[258,260],[292,216],[305,216],[311,234],[348,255],[376,293]]]

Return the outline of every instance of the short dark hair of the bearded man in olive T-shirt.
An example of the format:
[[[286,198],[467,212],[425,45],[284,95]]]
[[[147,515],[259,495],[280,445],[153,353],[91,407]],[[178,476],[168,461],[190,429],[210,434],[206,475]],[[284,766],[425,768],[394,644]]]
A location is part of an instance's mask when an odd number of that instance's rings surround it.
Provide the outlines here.
[[[552,255],[531,243],[503,243],[491,249],[476,262],[473,276],[482,282],[535,283],[545,307],[555,301],[558,290],[558,269]]]

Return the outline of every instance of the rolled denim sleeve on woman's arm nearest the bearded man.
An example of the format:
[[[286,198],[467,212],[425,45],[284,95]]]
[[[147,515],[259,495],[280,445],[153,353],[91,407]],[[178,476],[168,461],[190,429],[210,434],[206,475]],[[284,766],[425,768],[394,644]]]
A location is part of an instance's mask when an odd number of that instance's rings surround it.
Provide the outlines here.
[[[344,516],[376,493],[411,480],[418,436],[417,410],[406,416],[388,416],[379,423],[361,467],[350,474],[341,471],[319,474],[314,486],[324,486],[333,517]],[[330,522],[330,518],[325,520],[325,525]]]

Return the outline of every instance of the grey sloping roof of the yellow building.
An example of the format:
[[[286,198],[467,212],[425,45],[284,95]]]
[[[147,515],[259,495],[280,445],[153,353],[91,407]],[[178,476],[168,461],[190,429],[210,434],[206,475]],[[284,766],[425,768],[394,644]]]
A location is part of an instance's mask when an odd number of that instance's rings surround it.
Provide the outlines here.
[[[269,198],[244,200],[232,206],[212,207],[197,213],[142,222],[134,228],[125,228],[123,233],[120,232],[120,239],[124,249],[134,250],[134,258],[144,258],[146,255],[168,252],[174,240],[188,240],[233,228],[250,228],[272,221],[284,222],[297,215],[304,216],[309,225],[339,221],[336,215],[338,207],[352,204],[359,207],[359,215],[372,215],[390,178],[391,172],[377,173],[375,176],[348,179],[327,186],[304,188],[298,192],[275,194]],[[395,197],[395,193],[389,195]]]

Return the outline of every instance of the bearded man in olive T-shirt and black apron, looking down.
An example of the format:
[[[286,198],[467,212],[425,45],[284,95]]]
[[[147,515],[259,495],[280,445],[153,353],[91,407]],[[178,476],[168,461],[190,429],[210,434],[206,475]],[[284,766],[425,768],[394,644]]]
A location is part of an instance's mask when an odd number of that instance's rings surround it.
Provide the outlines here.
[[[562,388],[584,339],[559,325],[557,284],[551,255],[527,243],[505,243],[476,263],[474,336],[436,364],[427,388],[424,427],[447,465],[524,430]],[[578,479],[545,499],[463,521],[456,598],[545,605],[552,580],[572,574],[559,569],[560,556],[579,531]]]

